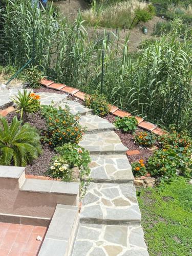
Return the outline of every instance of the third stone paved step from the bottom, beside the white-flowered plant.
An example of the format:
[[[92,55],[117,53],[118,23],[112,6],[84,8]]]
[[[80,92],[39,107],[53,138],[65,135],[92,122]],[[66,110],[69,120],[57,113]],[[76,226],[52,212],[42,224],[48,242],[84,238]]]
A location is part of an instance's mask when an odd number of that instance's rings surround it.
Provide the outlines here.
[[[126,155],[91,155],[91,173],[89,177],[92,182],[97,183],[129,183],[134,180],[132,167]]]

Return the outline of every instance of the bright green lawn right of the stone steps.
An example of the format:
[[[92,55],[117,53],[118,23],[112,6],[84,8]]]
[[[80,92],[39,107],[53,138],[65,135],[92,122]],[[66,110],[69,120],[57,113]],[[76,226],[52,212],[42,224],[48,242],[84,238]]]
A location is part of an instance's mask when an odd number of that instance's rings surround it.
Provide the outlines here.
[[[192,185],[183,177],[138,196],[142,227],[150,255],[192,255]],[[138,193],[137,193],[138,194]]]

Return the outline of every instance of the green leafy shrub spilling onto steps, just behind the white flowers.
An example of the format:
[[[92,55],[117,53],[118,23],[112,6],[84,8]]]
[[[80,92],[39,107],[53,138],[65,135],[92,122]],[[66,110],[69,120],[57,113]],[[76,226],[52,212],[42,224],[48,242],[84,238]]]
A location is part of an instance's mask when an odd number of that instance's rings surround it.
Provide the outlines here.
[[[84,175],[89,175],[89,163],[91,162],[89,151],[78,144],[72,143],[56,147],[55,151],[69,164],[70,168],[75,166],[79,168],[80,178]]]

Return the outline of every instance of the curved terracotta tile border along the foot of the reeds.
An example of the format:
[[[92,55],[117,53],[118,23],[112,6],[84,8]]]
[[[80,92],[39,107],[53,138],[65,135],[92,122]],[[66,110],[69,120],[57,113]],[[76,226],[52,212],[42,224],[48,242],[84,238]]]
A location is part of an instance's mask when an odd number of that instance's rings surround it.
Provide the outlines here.
[[[41,84],[43,86],[51,88],[50,85],[52,83],[54,83],[54,82],[51,81],[51,80],[41,79]],[[49,84],[49,86],[47,84]],[[55,88],[53,88],[53,89],[55,89]],[[55,90],[58,90],[58,88],[55,89]],[[71,95],[73,95],[73,96],[75,96],[78,99],[81,99],[83,101],[84,101],[84,97],[86,95],[89,95],[89,94],[80,92],[76,88],[68,87],[68,86],[66,86],[66,87],[64,87],[64,88],[62,88],[60,90],[65,92],[65,93],[69,93],[69,94],[71,94]],[[126,112],[126,111],[123,111],[123,110],[119,110],[119,108],[117,106],[109,104],[109,107],[110,107],[110,114],[112,114],[114,116],[119,116],[119,117],[132,116],[131,113],[129,113],[129,112]],[[157,125],[155,125],[153,123],[150,123],[150,122],[146,122],[146,121],[144,121],[143,118],[138,117],[138,116],[136,116],[135,118],[138,121],[138,127],[140,127],[141,129],[147,130],[148,132],[153,132],[154,134],[159,135],[159,136],[164,134],[163,130],[160,129],[159,127],[157,127]]]

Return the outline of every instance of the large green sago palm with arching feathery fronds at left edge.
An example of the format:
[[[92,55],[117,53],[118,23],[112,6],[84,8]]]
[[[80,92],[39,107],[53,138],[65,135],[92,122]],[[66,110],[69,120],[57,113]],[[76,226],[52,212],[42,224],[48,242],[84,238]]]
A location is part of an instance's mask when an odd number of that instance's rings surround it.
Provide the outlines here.
[[[0,117],[0,165],[26,166],[41,153],[36,129],[21,123],[16,116],[10,125]]]

